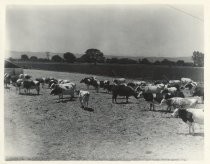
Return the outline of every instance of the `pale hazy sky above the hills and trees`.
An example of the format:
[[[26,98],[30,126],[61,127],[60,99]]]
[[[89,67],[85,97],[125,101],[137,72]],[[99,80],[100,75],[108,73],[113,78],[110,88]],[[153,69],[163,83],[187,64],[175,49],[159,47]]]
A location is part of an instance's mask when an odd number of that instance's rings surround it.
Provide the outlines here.
[[[175,8],[174,8],[175,7]],[[7,50],[191,56],[203,52],[199,5],[8,6]]]

